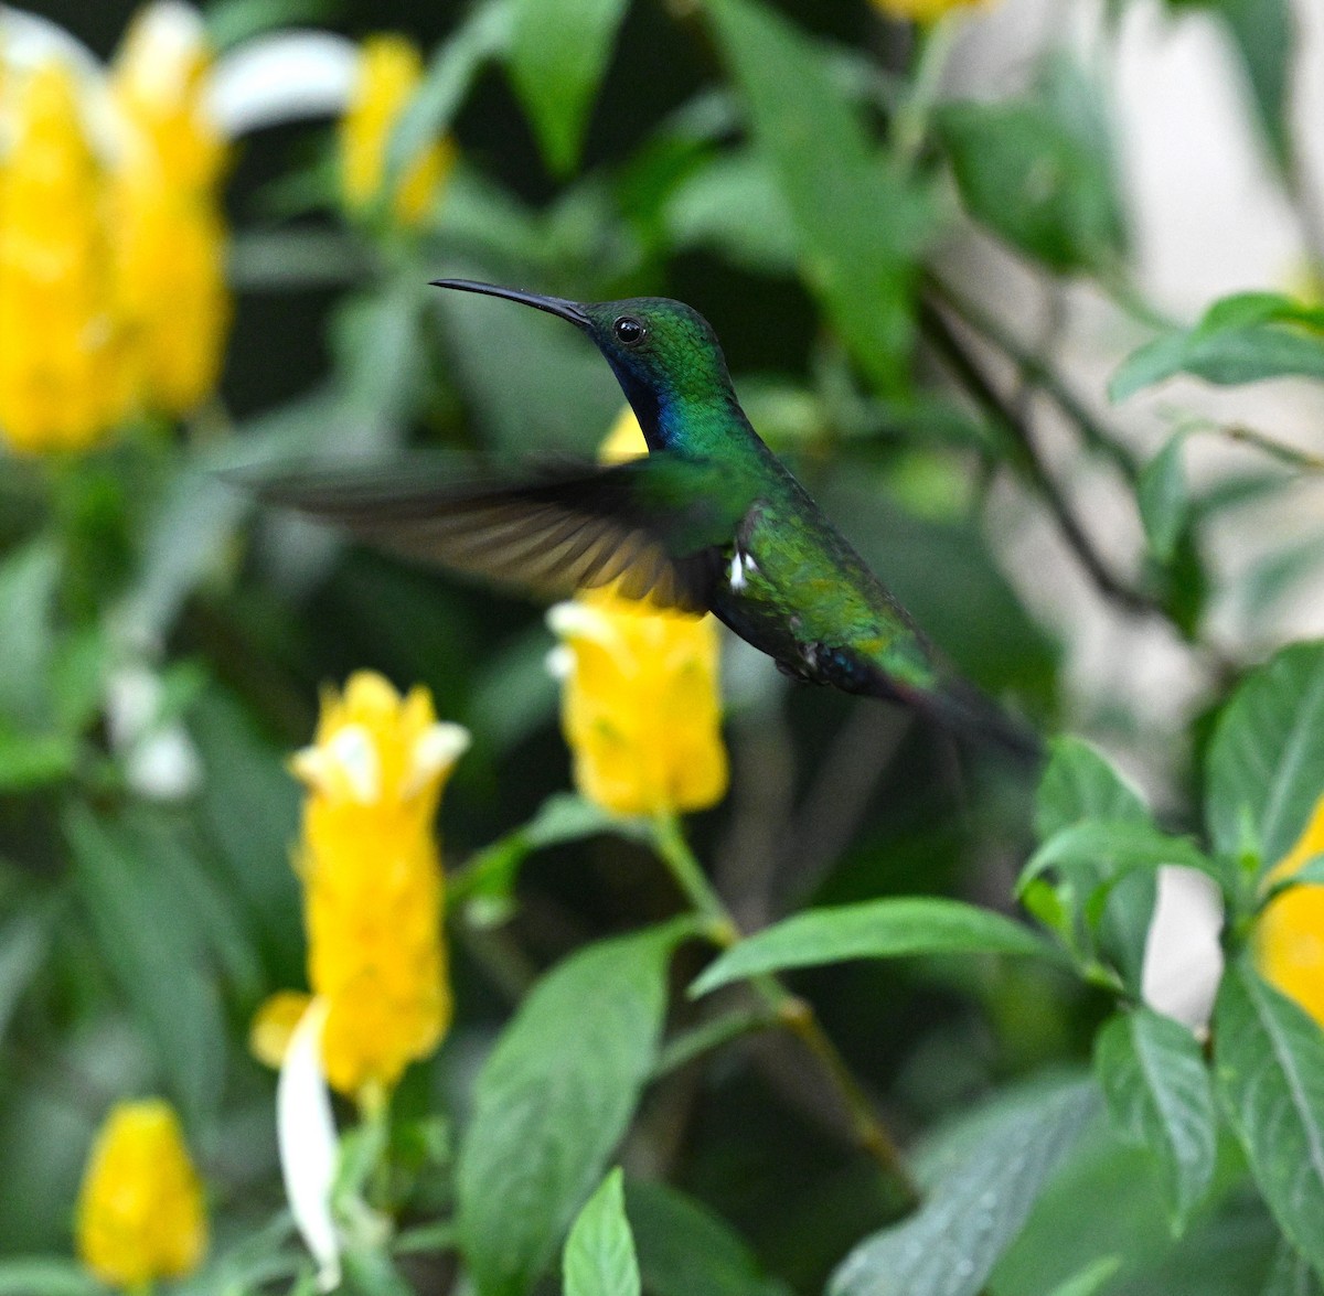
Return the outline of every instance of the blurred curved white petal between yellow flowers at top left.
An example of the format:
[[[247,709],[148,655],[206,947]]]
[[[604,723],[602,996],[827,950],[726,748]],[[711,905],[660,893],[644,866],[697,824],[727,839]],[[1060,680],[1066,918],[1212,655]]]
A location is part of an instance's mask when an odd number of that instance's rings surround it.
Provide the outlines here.
[[[359,49],[331,32],[275,32],[248,41],[212,71],[204,109],[222,135],[310,116],[339,116],[359,75]]]

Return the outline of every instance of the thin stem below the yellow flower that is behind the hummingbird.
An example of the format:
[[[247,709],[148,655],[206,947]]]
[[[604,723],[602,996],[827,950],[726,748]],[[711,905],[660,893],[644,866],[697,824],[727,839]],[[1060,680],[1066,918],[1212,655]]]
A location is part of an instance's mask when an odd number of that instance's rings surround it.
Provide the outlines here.
[[[679,819],[670,811],[659,811],[654,817],[653,825],[658,855],[703,920],[708,937],[722,949],[730,949],[741,939],[741,932],[722,896],[708,882],[703,866],[690,850]],[[772,1009],[777,1022],[796,1035],[821,1063],[843,1107],[850,1113],[851,1128],[859,1145],[898,1186],[907,1206],[918,1206],[920,1201],[919,1187],[906,1169],[896,1142],[887,1127],[878,1119],[874,1104],[855,1079],[846,1059],[822,1029],[812,1005],[792,994],[775,976],[752,977],[749,984],[764,1003]]]

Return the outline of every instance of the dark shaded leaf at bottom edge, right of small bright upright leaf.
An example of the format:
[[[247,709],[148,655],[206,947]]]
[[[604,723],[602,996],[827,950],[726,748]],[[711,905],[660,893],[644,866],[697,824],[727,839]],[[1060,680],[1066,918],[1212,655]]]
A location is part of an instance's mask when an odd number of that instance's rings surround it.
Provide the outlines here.
[[[724,1219],[669,1183],[625,1190],[650,1296],[789,1296]]]

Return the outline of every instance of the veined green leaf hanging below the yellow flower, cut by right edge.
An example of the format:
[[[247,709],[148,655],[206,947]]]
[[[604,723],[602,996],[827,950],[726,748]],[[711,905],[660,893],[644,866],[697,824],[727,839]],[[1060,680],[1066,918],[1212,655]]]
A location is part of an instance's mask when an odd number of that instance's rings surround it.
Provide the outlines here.
[[[1324,1273],[1324,1033],[1247,960],[1214,1005],[1218,1091],[1287,1239]]]

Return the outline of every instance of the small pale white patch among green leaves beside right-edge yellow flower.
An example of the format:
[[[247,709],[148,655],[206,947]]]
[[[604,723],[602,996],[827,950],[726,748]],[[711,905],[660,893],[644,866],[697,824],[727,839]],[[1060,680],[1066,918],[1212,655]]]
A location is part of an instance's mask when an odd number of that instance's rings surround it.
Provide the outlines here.
[[[1193,868],[1158,870],[1158,899],[1145,936],[1140,997],[1156,1013],[1202,1030],[1223,972],[1218,888]]]

